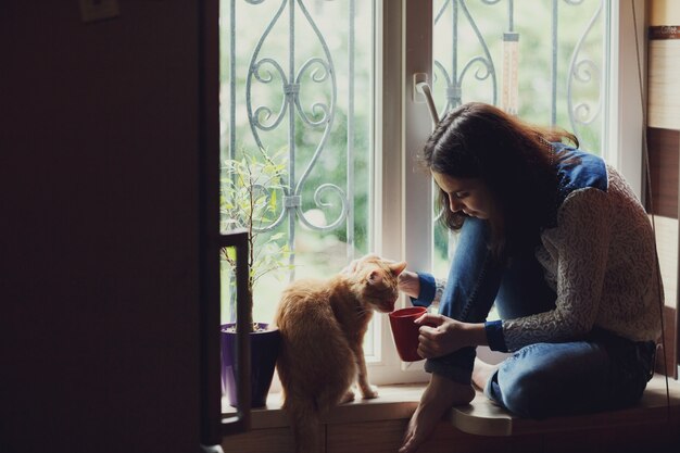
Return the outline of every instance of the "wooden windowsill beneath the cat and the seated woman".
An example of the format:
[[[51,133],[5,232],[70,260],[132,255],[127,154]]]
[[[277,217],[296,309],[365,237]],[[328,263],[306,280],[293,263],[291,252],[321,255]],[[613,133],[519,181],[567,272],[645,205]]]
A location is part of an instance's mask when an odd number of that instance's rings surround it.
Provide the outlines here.
[[[670,411],[666,398],[664,376],[655,376],[642,398],[630,408],[570,417],[532,420],[517,417],[491,403],[478,392],[470,404],[453,407],[446,415],[451,425],[461,431],[479,436],[516,436],[538,432],[576,431],[625,425],[641,425],[666,421],[680,411],[680,382],[669,380]],[[356,400],[342,404],[325,414],[322,423],[349,424],[362,421],[408,419],[415,411],[425,385],[396,385],[378,388],[379,397],[374,400]],[[267,429],[288,426],[281,410],[280,394],[273,393],[265,408],[253,410],[251,428]]]

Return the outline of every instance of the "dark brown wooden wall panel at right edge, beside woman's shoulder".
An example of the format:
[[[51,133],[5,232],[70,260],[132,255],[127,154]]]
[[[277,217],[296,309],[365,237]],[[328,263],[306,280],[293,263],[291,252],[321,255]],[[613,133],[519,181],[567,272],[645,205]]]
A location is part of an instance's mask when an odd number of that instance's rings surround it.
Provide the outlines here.
[[[647,128],[647,149],[654,214],[678,218],[680,133],[650,127]],[[648,200],[646,204],[647,212],[652,212]]]

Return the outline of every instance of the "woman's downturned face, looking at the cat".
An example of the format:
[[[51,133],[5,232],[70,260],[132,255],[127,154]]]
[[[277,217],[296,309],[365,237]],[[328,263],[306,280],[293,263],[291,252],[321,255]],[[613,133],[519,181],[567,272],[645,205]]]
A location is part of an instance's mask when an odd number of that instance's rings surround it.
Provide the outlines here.
[[[437,186],[446,193],[452,212],[463,211],[470,217],[489,219],[492,199],[481,179],[453,178],[437,172],[432,172],[432,177]]]

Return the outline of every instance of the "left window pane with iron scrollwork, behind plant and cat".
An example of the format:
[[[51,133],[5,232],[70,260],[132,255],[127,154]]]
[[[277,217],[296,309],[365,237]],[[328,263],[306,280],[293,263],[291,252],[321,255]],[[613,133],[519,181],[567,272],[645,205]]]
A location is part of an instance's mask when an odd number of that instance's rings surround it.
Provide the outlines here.
[[[255,251],[272,257],[274,241],[294,267],[256,281],[255,320],[290,278],[327,278],[370,249],[373,14],[370,1],[221,2],[222,160],[262,148],[286,166],[285,188],[261,191],[274,207]]]

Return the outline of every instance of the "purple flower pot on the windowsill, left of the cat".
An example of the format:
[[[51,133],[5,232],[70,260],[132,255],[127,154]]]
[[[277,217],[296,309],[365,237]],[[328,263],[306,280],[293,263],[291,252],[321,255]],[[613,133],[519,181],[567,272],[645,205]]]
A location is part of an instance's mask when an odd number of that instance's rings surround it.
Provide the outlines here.
[[[238,405],[236,386],[236,331],[228,331],[234,323],[221,326],[222,339],[222,392],[226,394],[231,406]],[[267,324],[257,323],[257,327],[266,329]],[[255,331],[250,335],[251,365],[251,407],[263,407],[267,404],[267,393],[272,387],[274,368],[281,344],[278,329]]]

